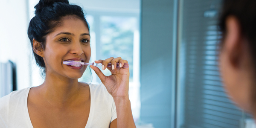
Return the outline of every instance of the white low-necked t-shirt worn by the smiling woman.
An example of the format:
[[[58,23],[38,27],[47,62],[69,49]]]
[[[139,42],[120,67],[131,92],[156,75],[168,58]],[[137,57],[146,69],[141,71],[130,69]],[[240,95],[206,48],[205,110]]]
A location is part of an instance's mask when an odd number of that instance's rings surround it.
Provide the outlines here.
[[[103,84],[89,84],[90,114],[85,128],[109,128],[116,119],[116,105]],[[27,99],[29,88],[13,91],[0,99],[0,128],[33,128]]]

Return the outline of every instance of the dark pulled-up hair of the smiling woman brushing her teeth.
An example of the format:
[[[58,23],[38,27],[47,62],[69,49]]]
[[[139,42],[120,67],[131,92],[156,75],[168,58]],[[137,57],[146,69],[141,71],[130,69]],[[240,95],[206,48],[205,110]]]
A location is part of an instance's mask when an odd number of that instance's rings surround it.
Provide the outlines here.
[[[35,6],[35,17],[30,20],[28,28],[28,36],[33,49],[33,39],[40,42],[40,47],[35,49],[45,49],[46,36],[54,31],[54,28],[61,26],[63,17],[73,16],[82,20],[90,29],[87,20],[84,17],[84,12],[80,6],[69,4],[68,0],[40,0]],[[41,67],[42,76],[45,75],[46,69],[44,59],[35,53],[36,64]]]

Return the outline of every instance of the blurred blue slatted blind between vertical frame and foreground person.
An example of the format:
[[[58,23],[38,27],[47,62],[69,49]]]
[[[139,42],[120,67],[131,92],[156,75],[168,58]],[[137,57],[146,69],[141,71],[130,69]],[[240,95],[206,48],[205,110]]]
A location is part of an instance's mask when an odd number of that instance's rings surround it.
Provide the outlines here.
[[[182,6],[180,128],[242,128],[243,113],[228,98],[218,68],[221,0],[183,0]]]

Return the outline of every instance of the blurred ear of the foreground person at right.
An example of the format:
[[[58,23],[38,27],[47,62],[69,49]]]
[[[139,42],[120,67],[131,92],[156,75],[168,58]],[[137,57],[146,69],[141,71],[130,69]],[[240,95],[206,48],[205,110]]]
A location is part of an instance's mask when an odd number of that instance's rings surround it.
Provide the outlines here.
[[[239,21],[234,16],[227,17],[226,27],[227,33],[224,48],[227,51],[230,64],[233,67],[240,67],[244,52],[244,41]]]

